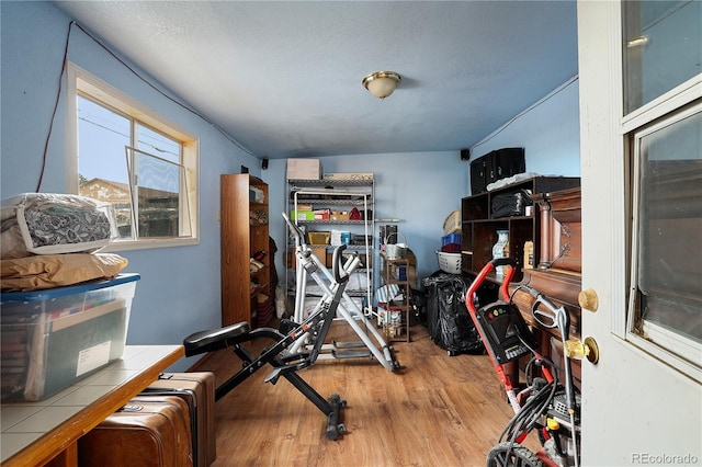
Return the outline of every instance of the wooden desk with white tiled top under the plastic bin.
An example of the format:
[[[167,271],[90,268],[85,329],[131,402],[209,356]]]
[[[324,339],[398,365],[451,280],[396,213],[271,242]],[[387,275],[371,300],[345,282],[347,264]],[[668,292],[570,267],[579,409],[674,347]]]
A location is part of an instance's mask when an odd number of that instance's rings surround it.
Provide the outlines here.
[[[127,345],[122,360],[44,401],[3,403],[2,466],[78,465],[78,438],[183,355],[182,345]]]

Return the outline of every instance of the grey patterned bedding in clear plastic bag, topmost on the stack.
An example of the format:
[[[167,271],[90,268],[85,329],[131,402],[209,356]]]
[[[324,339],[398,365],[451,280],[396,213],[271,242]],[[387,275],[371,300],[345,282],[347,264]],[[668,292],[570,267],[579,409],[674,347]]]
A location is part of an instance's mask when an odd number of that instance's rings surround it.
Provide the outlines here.
[[[118,237],[114,209],[87,196],[25,193],[2,201],[2,259],[94,252]]]

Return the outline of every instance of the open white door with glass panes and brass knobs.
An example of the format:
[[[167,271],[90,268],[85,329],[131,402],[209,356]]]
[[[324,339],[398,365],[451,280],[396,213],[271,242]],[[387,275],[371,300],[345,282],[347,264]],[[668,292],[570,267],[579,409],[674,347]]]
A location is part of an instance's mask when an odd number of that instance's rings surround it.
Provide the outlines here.
[[[578,1],[584,466],[702,465],[701,3]]]

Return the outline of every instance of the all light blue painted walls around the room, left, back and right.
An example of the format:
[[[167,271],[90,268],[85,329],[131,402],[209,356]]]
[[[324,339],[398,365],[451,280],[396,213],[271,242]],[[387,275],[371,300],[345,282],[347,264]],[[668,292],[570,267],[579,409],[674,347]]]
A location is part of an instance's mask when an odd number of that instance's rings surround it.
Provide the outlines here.
[[[0,2],[1,184],[2,198],[33,192],[56,95],[70,18],[48,2]],[[124,59],[128,62],[128,50]],[[127,271],[141,274],[132,308],[127,343],[173,344],[186,334],[220,322],[219,174],[247,166],[270,185],[271,236],[279,244],[282,275],[286,209],[285,160],[268,170],[200,117],[173,104],[132,75],[79,30],[73,29],[69,60],[141,101],[174,123],[200,135],[201,242],[184,248],[123,252]],[[143,73],[146,76],[146,73]],[[61,93],[49,139],[43,192],[66,192],[66,118]],[[466,128],[469,132],[469,128]],[[236,135],[234,135],[236,137]],[[523,146],[526,169],[544,174],[579,175],[577,80],[474,148],[474,157],[491,149]],[[403,219],[400,230],[418,257],[419,275],[438,269],[443,221],[471,193],[468,163],[449,152],[350,155],[322,157],[326,172],[374,172],[376,212]],[[194,363],[184,358],[172,369]]]

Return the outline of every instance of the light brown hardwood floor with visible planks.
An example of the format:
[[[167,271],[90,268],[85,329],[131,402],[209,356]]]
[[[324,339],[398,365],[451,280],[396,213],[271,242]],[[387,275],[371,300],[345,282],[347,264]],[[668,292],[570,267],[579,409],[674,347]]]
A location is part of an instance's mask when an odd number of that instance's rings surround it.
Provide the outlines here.
[[[329,337],[358,340],[343,321]],[[513,414],[487,355],[449,356],[419,324],[410,343],[393,346],[401,365],[396,373],[376,361],[322,357],[298,372],[324,397],[347,400],[341,420],[348,433],[336,441],[325,436],[321,411],[287,380],[264,383],[270,366],[262,368],[217,401],[213,466],[485,465]],[[240,366],[225,350],[192,369],[214,372],[219,385]]]

